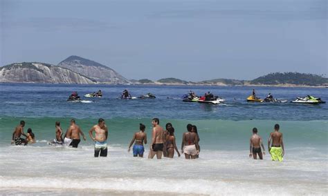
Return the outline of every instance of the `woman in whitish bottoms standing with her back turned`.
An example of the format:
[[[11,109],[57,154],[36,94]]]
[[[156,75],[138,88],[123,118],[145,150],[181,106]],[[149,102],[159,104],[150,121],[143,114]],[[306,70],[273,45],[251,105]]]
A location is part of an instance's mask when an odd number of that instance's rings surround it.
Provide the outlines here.
[[[197,134],[192,133],[192,124],[187,125],[187,130],[182,136],[181,151],[185,154],[185,159],[196,159],[199,153]]]

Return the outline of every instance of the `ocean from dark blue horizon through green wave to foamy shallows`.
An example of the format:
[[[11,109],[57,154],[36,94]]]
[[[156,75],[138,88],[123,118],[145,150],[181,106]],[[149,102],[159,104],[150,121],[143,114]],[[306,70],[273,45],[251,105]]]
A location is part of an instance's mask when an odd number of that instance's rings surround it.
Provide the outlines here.
[[[254,87],[257,97],[271,92],[288,99],[313,95],[328,100],[327,88]],[[92,103],[66,101],[72,91],[83,95],[102,90]],[[117,99],[122,90],[138,97]],[[328,106],[292,103],[248,103],[253,87],[113,86],[77,84],[0,84],[0,194],[3,195],[327,195]],[[212,92],[224,104],[185,103],[193,90]],[[109,128],[109,155],[93,157],[89,129],[104,118]],[[197,126],[199,159],[135,158],[127,153],[139,123],[150,140],[152,118],[171,122],[181,148],[187,124]],[[53,147],[55,121],[63,130],[75,119],[86,135],[79,148]],[[26,121],[37,139],[28,146],[10,145],[12,131]],[[274,124],[284,134],[284,161],[271,161],[268,135]],[[264,160],[248,157],[252,128],[262,136]],[[149,145],[145,145],[145,157]]]

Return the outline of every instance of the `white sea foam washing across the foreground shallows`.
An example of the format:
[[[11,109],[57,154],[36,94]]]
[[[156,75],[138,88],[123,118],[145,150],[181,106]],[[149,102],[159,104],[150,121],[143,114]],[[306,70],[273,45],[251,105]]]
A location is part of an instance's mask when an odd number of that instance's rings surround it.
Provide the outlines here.
[[[315,148],[292,148],[281,163],[267,155],[262,161],[248,159],[246,150],[202,150],[197,160],[149,160],[132,157],[120,144],[109,146],[106,158],[94,158],[93,146],[3,146],[0,152],[0,193],[8,188],[205,195],[327,193],[327,156],[315,153]],[[308,155],[316,159],[302,159]]]

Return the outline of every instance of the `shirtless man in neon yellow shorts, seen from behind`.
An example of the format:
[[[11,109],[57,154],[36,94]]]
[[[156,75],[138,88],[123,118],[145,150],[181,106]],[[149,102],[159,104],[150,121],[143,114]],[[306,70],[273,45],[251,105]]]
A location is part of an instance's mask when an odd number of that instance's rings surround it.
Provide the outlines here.
[[[279,124],[275,124],[275,131],[270,133],[270,137],[268,138],[268,152],[273,161],[282,161],[284,157],[284,142],[282,141],[282,133],[279,132],[279,129]]]

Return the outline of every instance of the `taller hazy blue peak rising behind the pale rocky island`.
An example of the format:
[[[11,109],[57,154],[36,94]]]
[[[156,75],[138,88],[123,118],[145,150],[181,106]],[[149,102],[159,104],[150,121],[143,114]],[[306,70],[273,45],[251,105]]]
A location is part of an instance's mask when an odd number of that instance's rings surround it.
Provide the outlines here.
[[[84,59],[78,56],[71,56],[60,62],[58,66],[62,68],[68,68],[74,72],[78,72],[81,75],[85,75],[106,84],[129,84],[130,81],[122,75],[118,74],[115,70],[104,66],[95,61]]]

